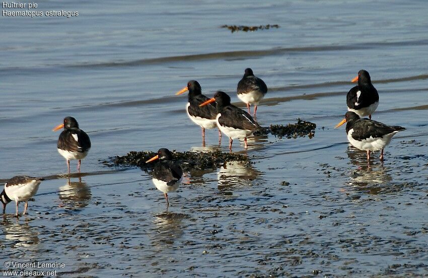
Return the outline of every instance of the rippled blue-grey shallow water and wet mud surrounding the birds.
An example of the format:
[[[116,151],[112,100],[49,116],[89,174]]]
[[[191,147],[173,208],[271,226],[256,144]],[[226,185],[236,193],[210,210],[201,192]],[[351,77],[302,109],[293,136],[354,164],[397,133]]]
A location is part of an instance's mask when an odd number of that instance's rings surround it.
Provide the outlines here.
[[[47,178],[28,216],[16,220],[8,205],[3,261],[63,262],[48,269],[63,277],[428,274],[424,1],[64,1],[38,9],[80,15],[0,17],[0,181]],[[224,24],[280,28],[231,33]],[[249,66],[269,87],[259,123],[300,117],[317,124],[314,138],[254,137],[248,152],[236,141],[252,167],[187,173],[168,210],[148,173],[101,163],[131,150],[217,149],[216,130],[201,147],[187,98],[174,93],[195,79],[206,95],[224,90],[243,107],[234,92]],[[380,94],[373,118],[407,128],[384,163],[375,153],[367,165],[344,128],[333,129],[362,68]],[[68,115],[93,144],[70,178],[51,131]]]

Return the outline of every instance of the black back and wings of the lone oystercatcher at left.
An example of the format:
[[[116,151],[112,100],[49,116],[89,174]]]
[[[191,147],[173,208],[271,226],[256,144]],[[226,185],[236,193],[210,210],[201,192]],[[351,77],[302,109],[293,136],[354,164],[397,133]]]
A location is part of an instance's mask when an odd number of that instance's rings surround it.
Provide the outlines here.
[[[88,134],[82,129],[65,129],[59,134],[57,147],[69,152],[83,153],[91,148],[91,140],[89,140]]]

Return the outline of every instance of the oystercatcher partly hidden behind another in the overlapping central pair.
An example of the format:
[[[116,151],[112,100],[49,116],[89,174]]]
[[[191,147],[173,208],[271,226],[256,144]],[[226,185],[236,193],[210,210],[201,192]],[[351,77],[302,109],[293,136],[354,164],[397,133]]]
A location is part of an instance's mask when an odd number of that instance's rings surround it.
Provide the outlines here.
[[[186,112],[189,118],[202,128],[202,141],[205,142],[205,128],[211,129],[217,127],[217,109],[216,104],[212,103],[200,107],[199,104],[207,101],[209,98],[202,95],[199,83],[195,80],[187,82],[187,86],[177,92],[175,95],[181,95],[189,91]],[[222,141],[222,132],[219,129],[219,142]]]

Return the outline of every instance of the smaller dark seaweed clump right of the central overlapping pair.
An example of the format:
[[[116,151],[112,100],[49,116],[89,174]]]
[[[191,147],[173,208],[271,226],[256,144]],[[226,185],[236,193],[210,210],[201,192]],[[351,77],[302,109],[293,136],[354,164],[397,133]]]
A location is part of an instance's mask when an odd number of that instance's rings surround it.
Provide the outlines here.
[[[315,136],[316,127],[315,123],[298,118],[297,123],[289,123],[287,125],[271,124],[269,127],[263,127],[261,130],[254,132],[254,135],[267,135],[271,133],[278,138],[287,137],[289,139],[308,135],[312,139]]]

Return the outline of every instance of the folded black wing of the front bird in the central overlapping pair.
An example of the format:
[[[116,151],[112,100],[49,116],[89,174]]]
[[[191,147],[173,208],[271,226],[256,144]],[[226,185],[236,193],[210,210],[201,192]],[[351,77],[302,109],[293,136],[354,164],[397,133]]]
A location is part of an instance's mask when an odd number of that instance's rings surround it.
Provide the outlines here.
[[[229,105],[220,112],[219,123],[222,126],[228,126],[246,130],[257,130],[260,125],[246,111]]]

